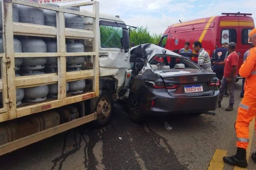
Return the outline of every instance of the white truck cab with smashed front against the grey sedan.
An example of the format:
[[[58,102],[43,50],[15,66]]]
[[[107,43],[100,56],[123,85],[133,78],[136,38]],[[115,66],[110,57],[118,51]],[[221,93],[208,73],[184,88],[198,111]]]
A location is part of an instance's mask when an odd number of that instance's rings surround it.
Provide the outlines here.
[[[85,29],[90,29],[91,18],[85,17],[84,24]],[[118,99],[124,89],[128,91],[131,75],[127,27],[119,16],[99,14],[99,35],[99,89],[111,92]]]

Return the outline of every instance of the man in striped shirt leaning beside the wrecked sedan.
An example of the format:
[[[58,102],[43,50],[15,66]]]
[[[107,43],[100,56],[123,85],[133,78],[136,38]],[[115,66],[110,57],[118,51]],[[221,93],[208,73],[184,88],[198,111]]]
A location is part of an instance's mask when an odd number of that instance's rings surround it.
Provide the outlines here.
[[[194,42],[192,48],[195,52],[198,52],[198,61],[197,64],[205,69],[206,71],[213,72],[211,69],[211,59],[209,54],[202,48],[200,41]]]

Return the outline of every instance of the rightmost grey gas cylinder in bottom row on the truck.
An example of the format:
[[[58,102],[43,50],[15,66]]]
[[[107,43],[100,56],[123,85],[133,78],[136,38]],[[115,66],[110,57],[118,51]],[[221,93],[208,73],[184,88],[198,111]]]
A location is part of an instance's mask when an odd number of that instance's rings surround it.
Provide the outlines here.
[[[67,72],[71,71],[79,71],[80,68],[77,69],[68,69]],[[85,88],[85,80],[77,80],[69,82],[69,92],[72,94],[82,93]]]

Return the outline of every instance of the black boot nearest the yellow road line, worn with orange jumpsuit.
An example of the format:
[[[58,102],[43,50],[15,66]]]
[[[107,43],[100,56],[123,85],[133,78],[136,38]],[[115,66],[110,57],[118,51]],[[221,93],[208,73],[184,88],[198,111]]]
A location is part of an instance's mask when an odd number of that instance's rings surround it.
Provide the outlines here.
[[[238,166],[241,168],[246,168],[248,166],[246,160],[246,150],[237,147],[236,154],[233,156],[224,156],[223,161],[227,164]]]

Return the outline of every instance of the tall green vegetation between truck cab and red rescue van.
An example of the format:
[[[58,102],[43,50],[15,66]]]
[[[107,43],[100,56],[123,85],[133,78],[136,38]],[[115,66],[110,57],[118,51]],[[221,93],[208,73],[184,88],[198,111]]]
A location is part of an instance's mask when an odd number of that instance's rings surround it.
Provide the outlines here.
[[[137,29],[131,29],[130,42],[135,45],[151,43],[157,44],[162,34],[150,34],[148,27],[138,27]]]

